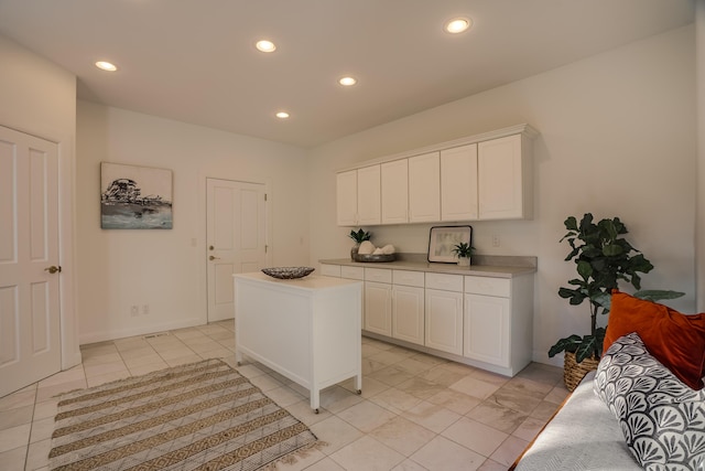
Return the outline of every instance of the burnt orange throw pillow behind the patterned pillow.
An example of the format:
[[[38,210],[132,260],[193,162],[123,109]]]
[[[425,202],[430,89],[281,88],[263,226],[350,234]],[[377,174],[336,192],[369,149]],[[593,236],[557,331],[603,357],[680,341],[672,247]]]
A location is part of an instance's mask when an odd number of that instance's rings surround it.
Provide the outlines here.
[[[615,290],[603,352],[631,332],[637,332],[647,350],[683,383],[703,388],[705,312],[686,315]]]

